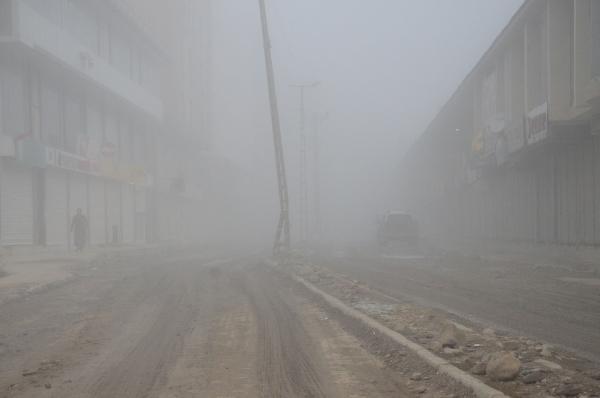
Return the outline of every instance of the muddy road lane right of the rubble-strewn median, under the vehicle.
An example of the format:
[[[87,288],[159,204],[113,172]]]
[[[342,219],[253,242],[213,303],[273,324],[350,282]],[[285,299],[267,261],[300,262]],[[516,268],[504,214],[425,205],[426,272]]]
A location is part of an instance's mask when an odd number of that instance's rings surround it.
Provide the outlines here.
[[[376,253],[321,258],[390,296],[437,307],[600,361],[600,279],[536,263]]]

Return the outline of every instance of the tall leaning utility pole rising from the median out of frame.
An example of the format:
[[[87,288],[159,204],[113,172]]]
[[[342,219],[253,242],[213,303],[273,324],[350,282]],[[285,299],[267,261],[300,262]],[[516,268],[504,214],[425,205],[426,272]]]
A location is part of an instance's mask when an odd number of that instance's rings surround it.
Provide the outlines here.
[[[283,156],[283,143],[281,140],[281,124],[279,122],[279,109],[277,107],[277,90],[273,72],[273,58],[271,56],[271,39],[267,22],[267,9],[265,1],[259,0],[260,18],[262,23],[263,46],[265,50],[265,64],[267,67],[267,82],[269,85],[269,102],[271,104],[271,124],[273,128],[273,143],[275,146],[275,166],[277,168],[277,185],[279,187],[279,223],[273,244],[273,254],[287,255],[290,250],[290,214],[287,177],[285,174],[285,159]]]

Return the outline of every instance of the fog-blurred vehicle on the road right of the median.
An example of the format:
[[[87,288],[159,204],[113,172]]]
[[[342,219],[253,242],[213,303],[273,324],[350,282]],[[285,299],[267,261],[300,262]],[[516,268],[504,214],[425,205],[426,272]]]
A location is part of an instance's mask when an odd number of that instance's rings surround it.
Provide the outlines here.
[[[377,242],[380,246],[416,246],[419,242],[419,225],[408,213],[388,211],[380,217],[378,224]]]

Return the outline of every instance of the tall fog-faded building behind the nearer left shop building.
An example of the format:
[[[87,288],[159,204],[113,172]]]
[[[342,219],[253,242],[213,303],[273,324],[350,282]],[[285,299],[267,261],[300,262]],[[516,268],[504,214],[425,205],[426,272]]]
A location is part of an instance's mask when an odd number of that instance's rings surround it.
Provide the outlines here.
[[[163,133],[157,136],[160,239],[195,239],[206,214],[210,0],[119,0],[166,54]]]

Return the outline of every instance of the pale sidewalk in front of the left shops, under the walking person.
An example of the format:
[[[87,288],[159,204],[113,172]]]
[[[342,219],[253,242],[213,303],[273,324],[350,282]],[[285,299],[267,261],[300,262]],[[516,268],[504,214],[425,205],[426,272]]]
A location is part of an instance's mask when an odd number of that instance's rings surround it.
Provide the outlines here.
[[[0,249],[0,305],[58,284],[103,256],[143,250],[148,245],[89,247],[82,253],[64,248],[7,247]]]

